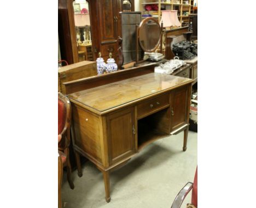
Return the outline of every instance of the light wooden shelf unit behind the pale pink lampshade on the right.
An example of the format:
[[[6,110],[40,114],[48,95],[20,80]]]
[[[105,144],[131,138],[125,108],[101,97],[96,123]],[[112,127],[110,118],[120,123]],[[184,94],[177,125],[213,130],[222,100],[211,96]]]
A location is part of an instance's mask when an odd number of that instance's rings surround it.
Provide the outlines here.
[[[177,3],[179,2],[179,3]],[[178,8],[178,19],[179,22],[182,23],[188,23],[188,15],[191,13],[191,11],[193,11],[193,4],[194,4],[194,0],[189,0],[188,4],[183,4],[183,0],[178,0],[178,1],[174,1],[171,0],[170,3],[169,2],[161,2],[161,0],[140,0],[140,11],[141,14],[151,14],[153,16],[153,14],[158,14],[158,16],[154,15],[154,18],[157,18],[158,21],[160,22],[161,20],[161,6],[164,5],[166,10],[177,10]],[[148,4],[158,4],[158,11],[147,11],[145,9],[145,5]],[[184,8],[184,9],[183,9]],[[187,15],[183,15],[183,11],[188,12]],[[146,17],[142,17],[142,18],[146,18]],[[182,25],[184,27],[184,24]],[[185,25],[188,26],[188,25]]]

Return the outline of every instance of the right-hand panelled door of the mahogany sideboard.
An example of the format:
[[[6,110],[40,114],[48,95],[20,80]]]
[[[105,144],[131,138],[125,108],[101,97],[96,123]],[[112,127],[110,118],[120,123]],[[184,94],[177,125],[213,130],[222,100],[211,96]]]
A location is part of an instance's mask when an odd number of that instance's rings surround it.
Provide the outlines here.
[[[187,124],[189,105],[189,86],[174,89],[170,94],[171,132]]]

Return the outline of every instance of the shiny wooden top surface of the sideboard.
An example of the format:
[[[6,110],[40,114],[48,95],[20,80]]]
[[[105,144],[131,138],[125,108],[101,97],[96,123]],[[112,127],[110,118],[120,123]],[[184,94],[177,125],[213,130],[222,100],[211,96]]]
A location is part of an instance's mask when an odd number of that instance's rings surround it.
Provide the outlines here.
[[[69,94],[68,97],[103,112],[142,97],[159,94],[178,85],[193,82],[193,79],[173,75],[149,73],[100,87]]]

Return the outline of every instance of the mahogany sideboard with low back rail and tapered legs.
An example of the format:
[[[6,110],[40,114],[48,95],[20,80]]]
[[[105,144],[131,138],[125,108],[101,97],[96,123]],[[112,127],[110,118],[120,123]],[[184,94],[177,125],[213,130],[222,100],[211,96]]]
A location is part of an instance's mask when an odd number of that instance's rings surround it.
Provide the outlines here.
[[[72,105],[78,175],[82,176],[79,155],[83,155],[103,173],[109,202],[110,171],[144,146],[184,131],[185,151],[192,82],[142,67],[63,83]]]

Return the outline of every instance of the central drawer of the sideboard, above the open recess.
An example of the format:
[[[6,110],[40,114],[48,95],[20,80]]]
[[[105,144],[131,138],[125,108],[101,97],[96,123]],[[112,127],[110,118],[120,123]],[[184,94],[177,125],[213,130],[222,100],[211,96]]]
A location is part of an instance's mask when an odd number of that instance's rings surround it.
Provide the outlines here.
[[[159,111],[160,109],[167,107],[169,105],[168,94],[155,97],[153,99],[144,101],[137,106],[137,118],[143,118],[150,113]]]

